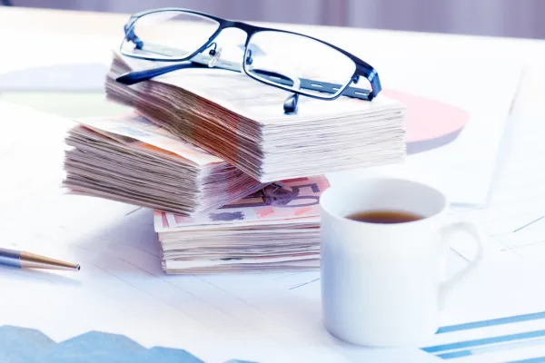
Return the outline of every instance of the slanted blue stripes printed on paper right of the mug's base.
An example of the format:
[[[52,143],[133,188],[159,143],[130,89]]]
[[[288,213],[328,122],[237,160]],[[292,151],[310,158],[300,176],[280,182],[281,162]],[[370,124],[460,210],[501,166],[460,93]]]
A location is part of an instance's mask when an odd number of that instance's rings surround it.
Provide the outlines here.
[[[437,331],[436,336],[445,337],[445,342],[421,349],[438,358],[455,362],[458,361],[457,358],[460,358],[460,360],[473,356],[485,358],[487,354],[505,354],[510,350],[521,348],[520,351],[523,352],[523,348],[542,346],[544,353],[540,356],[511,359],[509,363],[545,362],[545,329],[535,329],[535,324],[532,324],[533,329],[532,327],[528,327],[529,329],[513,329],[512,334],[505,334],[505,331],[514,327],[514,325],[523,328],[525,324],[531,324],[535,320],[543,320],[545,328],[545,311],[442,327]],[[495,327],[500,328],[499,330],[503,331],[503,333],[494,334]],[[477,331],[477,329],[490,329],[490,331],[485,333],[486,336],[479,334],[480,338],[454,339],[454,341],[447,338],[449,333],[471,332]]]

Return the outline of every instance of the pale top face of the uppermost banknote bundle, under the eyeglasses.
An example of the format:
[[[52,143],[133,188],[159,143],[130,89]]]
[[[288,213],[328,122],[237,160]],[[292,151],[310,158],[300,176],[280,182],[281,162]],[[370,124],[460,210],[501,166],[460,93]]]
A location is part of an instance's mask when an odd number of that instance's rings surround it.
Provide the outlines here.
[[[278,61],[278,57],[272,58]],[[242,57],[239,59],[242,59]],[[260,60],[260,62],[263,62],[263,60]],[[156,62],[124,57],[118,51],[114,51],[113,61],[115,65],[123,68],[124,72],[142,71],[157,66]],[[298,74],[297,70],[293,69],[293,63],[289,60],[286,60],[283,66],[282,64],[273,64],[272,67],[274,66],[287,68],[287,74],[292,74],[293,71]],[[328,68],[331,68],[331,66],[325,67],[325,69]],[[313,78],[313,76],[318,76],[315,79],[322,80],[323,69],[323,65],[320,64],[318,65],[318,69],[312,69],[310,72],[304,68],[301,70],[307,77]],[[330,72],[333,72],[332,76],[334,79],[335,71],[332,70]],[[304,104],[305,107],[301,107],[298,113],[286,115],[279,113],[278,108],[278,105],[282,104],[286,99],[285,91],[255,82],[245,74],[225,72],[220,68],[184,69],[181,73],[165,74],[156,81],[157,84],[153,84],[154,89],[168,85],[187,90],[206,100],[211,100],[213,103],[217,103],[227,110],[232,110],[242,117],[251,119],[255,123],[261,124],[294,123],[303,120],[339,117],[340,115],[351,113],[375,113],[387,111],[391,108],[403,108],[401,103],[397,103],[386,97],[381,97],[375,100],[377,102],[373,103],[362,102],[361,100],[349,97],[341,97],[336,100],[335,107],[331,107],[331,104],[323,103],[320,100],[302,98],[299,102],[300,104]],[[135,90],[138,90],[140,86],[139,83],[135,84]],[[365,86],[362,87],[365,88]],[[150,91],[153,92],[154,90]],[[255,97],[256,94],[259,94],[259,97]]]

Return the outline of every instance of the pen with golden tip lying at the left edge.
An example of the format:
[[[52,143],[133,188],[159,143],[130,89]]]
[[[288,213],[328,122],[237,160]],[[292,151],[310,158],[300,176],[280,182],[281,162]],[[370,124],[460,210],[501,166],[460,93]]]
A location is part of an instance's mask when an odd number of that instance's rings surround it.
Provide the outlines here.
[[[35,253],[25,252],[24,250],[8,250],[3,248],[0,248],[0,265],[14,266],[22,269],[80,270],[80,266],[75,263],[54,260],[49,257],[36,255]]]

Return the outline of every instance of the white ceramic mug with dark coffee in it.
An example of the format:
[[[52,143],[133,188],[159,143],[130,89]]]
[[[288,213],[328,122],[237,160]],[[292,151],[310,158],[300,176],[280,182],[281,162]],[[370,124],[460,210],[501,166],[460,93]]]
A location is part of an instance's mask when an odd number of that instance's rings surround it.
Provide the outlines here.
[[[481,260],[479,231],[447,222],[446,196],[419,182],[372,178],[322,193],[321,283],[325,328],[344,341],[372,347],[419,344],[439,328],[441,299]],[[358,211],[405,211],[421,220],[391,224],[345,218]],[[467,231],[477,257],[445,282],[448,240]],[[471,269],[470,269],[471,268]]]

